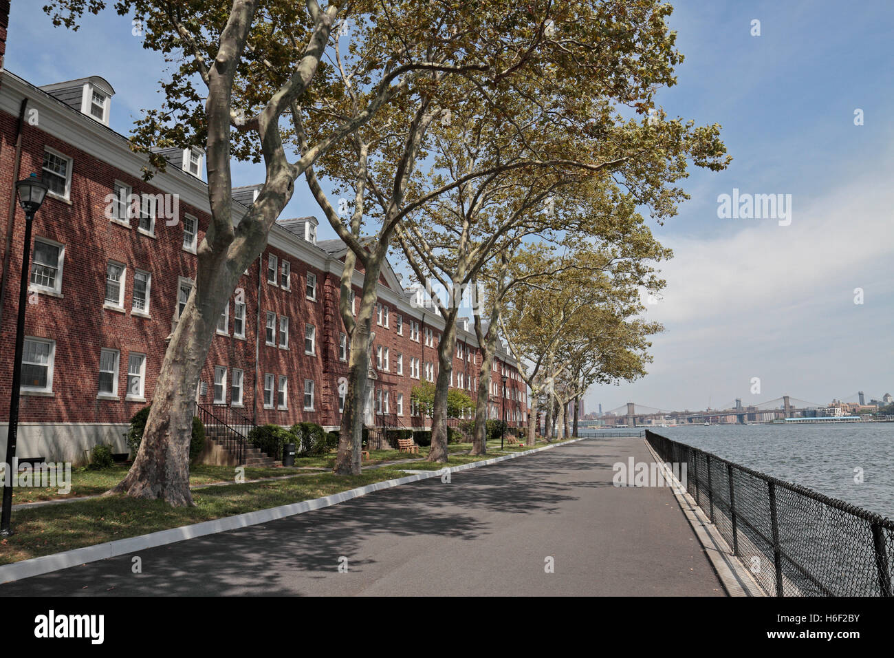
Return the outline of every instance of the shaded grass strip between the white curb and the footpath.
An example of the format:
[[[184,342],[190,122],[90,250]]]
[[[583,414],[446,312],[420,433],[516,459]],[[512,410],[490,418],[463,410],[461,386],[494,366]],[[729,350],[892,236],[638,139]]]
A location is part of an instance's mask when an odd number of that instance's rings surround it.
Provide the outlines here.
[[[277,470],[282,473],[283,469]],[[360,475],[324,473],[208,487],[193,492],[193,508],[172,508],[161,500],[109,496],[20,509],[13,512],[14,534],[0,541],[0,564],[311,500],[402,475],[397,469],[375,468]]]

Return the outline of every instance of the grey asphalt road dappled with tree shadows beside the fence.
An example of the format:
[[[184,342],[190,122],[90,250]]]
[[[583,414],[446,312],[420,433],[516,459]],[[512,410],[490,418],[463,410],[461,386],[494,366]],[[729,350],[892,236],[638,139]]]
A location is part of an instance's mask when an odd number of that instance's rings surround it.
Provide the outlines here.
[[[611,484],[629,456],[651,461],[642,439],[584,440],[0,595],[724,595],[670,489]]]

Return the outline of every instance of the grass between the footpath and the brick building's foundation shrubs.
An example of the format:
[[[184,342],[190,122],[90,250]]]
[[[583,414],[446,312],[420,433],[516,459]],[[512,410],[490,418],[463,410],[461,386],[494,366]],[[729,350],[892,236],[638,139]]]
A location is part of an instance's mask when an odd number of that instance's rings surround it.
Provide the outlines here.
[[[305,466],[305,465],[302,465]],[[325,466],[325,465],[321,465]],[[307,467],[307,466],[305,466]],[[95,496],[105,493],[115,484],[120,483],[127,474],[130,466],[112,466],[99,471],[91,471],[88,468],[72,468],[72,489],[68,493],[59,493],[58,487],[14,487],[13,505],[26,502],[38,502],[39,500],[58,500],[62,498],[77,498],[80,496]],[[245,469],[246,480],[257,480],[262,477],[275,477],[296,473],[312,473],[292,468],[254,468]],[[208,484],[218,482],[234,482],[236,471],[234,466],[205,466],[197,464],[190,467],[190,484]],[[3,486],[0,485],[0,491]]]

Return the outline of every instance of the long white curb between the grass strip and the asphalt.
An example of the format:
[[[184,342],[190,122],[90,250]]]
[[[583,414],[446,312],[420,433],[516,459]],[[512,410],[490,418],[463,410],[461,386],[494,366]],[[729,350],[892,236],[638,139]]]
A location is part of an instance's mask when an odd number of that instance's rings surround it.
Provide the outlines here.
[[[325,496],[323,498],[302,500],[301,502],[291,503],[291,505],[281,505],[278,508],[258,509],[255,512],[246,512],[245,514],[238,514],[235,517],[215,518],[212,521],[204,521],[191,526],[160,530],[157,533],[151,534],[140,534],[136,537],[119,539],[114,542],[97,543],[93,546],[72,549],[72,551],[63,551],[61,553],[53,553],[52,555],[44,555],[40,558],[21,560],[21,562],[14,562],[13,564],[4,564],[3,566],[0,566],[0,583],[9,583],[13,580],[40,576],[41,574],[59,571],[63,568],[77,567],[79,564],[96,562],[97,560],[106,560],[107,558],[114,558],[118,555],[126,555],[133,551],[144,551],[146,549],[156,548],[157,546],[164,546],[168,543],[182,542],[186,539],[195,539],[196,537],[202,537],[206,534],[223,533],[227,530],[236,530],[237,528],[247,526],[257,526],[257,524],[274,521],[278,518],[294,517],[313,509],[328,508],[333,505],[338,505],[340,502],[359,498],[360,496],[365,496],[367,493],[372,493],[373,491],[390,489],[392,487],[401,486],[401,484],[427,480],[432,477],[440,477],[447,472],[456,473],[457,471],[465,471],[468,468],[489,466],[491,464],[505,461],[506,459],[533,455],[542,450],[566,446],[569,443],[576,443],[581,440],[583,439],[572,439],[550,446],[543,446],[542,448],[525,450],[524,452],[519,452],[514,455],[493,457],[493,459],[470,462],[469,464],[462,464],[460,466],[438,468],[427,472],[416,472],[415,474],[407,475],[406,477],[367,484],[366,486],[350,489],[349,491],[333,493],[331,496]]]

